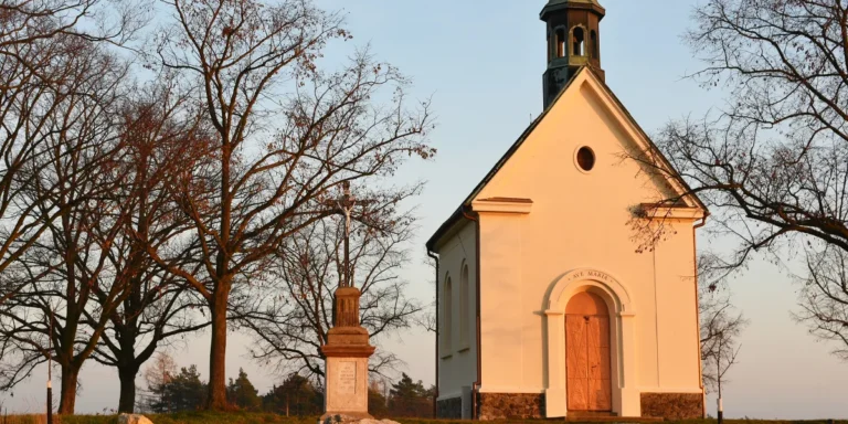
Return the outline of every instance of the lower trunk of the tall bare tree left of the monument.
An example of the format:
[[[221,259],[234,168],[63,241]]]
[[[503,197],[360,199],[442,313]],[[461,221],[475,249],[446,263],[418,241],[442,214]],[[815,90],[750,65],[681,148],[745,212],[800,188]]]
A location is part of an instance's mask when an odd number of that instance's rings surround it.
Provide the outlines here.
[[[229,290],[219,287],[213,296],[206,407],[212,411],[224,411],[226,410],[226,300]]]

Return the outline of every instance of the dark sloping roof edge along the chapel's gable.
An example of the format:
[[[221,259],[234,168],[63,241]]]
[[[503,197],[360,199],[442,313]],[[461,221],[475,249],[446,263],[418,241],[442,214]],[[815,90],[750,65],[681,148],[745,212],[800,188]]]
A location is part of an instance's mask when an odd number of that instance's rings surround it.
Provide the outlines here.
[[[569,1],[596,2],[595,0],[551,0],[551,2],[554,2],[554,1],[563,1],[563,2],[569,2]],[[427,240],[426,246],[427,246],[428,251],[433,251],[433,247],[435,246],[436,242],[438,242],[438,240],[442,239],[442,236],[445,235],[445,233],[447,233],[451,230],[451,227],[454,225],[454,223],[456,223],[457,220],[463,218],[464,213],[467,211],[467,208],[470,206],[470,204],[474,201],[474,199],[480,193],[480,191],[483,191],[483,189],[486,187],[486,184],[488,184],[489,181],[491,181],[491,179],[495,178],[495,176],[498,173],[498,171],[500,171],[500,169],[504,167],[504,165],[507,163],[507,161],[512,157],[512,155],[515,155],[516,151],[518,151],[518,149],[521,147],[521,145],[523,145],[524,140],[527,140],[527,138],[530,136],[530,134],[532,134],[533,130],[536,130],[537,126],[539,126],[539,123],[541,123],[544,119],[544,117],[548,116],[548,113],[553,108],[554,105],[556,105],[556,103],[565,94],[565,92],[569,91],[569,88],[574,83],[574,81],[577,80],[577,77],[580,77],[580,75],[582,75],[584,72],[589,72],[589,73],[591,73],[591,75],[596,75],[595,71],[593,71],[593,68],[591,66],[582,66],[577,72],[574,73],[574,75],[572,75],[572,77],[569,80],[569,82],[562,87],[562,91],[560,91],[560,94],[556,95],[556,98],[554,98],[554,100],[551,102],[551,104],[548,105],[548,107],[536,119],[533,119],[533,121],[530,124],[530,126],[527,127],[527,129],[524,129],[524,131],[516,140],[516,142],[513,142],[512,146],[510,146],[510,148],[507,150],[507,152],[504,153],[504,156],[495,163],[495,166],[489,170],[489,172],[486,173],[486,177],[484,177],[483,180],[474,188],[474,190],[470,192],[470,194],[468,194],[468,197],[465,198],[465,200],[459,204],[459,206],[454,211],[454,213],[452,213],[451,216],[444,223],[442,223],[442,225],[439,225],[439,227],[436,230],[436,232],[433,233],[433,235],[430,237],[430,240]],[[658,148],[656,147],[656,145],[654,144],[654,141],[650,139],[650,137],[648,137],[648,135],[645,132],[645,130],[642,129],[642,127],[638,125],[638,123],[636,123],[636,119],[633,118],[633,115],[630,115],[630,113],[627,110],[627,108],[624,107],[622,102],[618,99],[618,97],[615,95],[615,93],[613,93],[613,91],[610,88],[610,86],[606,85],[604,80],[601,78],[601,77],[597,77],[597,76],[595,77],[595,80],[600,83],[601,87],[603,87],[603,89],[607,92],[607,94],[616,103],[616,105],[622,109],[622,112],[625,114],[627,119],[629,119],[633,123],[634,127],[639,131],[639,134],[642,134],[642,136],[645,138],[645,140],[647,140],[650,144],[651,148],[657,149],[657,151],[659,151]],[[675,174],[678,174],[677,170],[675,170],[674,166],[671,166],[671,163],[667,159],[665,159],[665,157],[662,156],[661,152],[660,152],[659,156],[660,156],[661,159],[665,160],[665,162],[666,162],[665,165],[667,167],[669,167],[670,169],[672,169]],[[687,191],[691,192],[691,189],[686,183],[686,181],[683,181],[682,179],[679,179],[678,182]],[[703,204],[703,202],[698,198],[697,194],[692,194],[691,198],[695,199],[695,202],[697,203],[698,208],[707,211],[707,205]],[[532,202],[532,201],[530,201],[530,202]]]

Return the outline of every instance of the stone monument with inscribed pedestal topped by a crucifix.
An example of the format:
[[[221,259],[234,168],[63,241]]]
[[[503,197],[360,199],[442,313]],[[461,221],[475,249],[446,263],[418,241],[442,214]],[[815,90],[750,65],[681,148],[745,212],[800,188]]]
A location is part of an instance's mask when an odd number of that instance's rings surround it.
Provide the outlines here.
[[[344,213],[344,278],[336,289],[332,305],[332,328],[327,343],[321,346],[325,357],[324,416],[349,415],[372,418],[368,414],[368,358],[374,353],[368,330],[359,324],[361,293],[350,279],[350,213],[356,200],[344,184],[344,195],[337,208]]]

